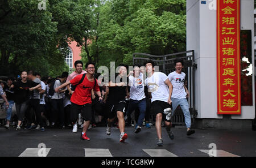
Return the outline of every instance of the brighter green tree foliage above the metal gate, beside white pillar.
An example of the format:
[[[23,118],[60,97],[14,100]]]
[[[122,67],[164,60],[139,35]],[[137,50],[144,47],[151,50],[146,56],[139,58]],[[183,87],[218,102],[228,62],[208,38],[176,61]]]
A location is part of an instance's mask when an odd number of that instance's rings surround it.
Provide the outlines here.
[[[185,0],[110,0],[99,6],[94,31],[98,64],[132,63],[133,53],[163,55],[185,50]],[[96,37],[96,36],[93,36]],[[96,47],[96,46],[97,47]],[[86,55],[86,54],[85,54]]]

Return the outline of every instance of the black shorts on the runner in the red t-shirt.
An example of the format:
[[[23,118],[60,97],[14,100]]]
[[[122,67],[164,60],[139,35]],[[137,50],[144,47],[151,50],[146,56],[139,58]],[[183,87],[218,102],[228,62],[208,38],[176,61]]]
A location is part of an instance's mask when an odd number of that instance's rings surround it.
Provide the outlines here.
[[[92,104],[77,105],[71,104],[71,122],[76,123],[79,113],[82,114],[85,121],[92,119]]]

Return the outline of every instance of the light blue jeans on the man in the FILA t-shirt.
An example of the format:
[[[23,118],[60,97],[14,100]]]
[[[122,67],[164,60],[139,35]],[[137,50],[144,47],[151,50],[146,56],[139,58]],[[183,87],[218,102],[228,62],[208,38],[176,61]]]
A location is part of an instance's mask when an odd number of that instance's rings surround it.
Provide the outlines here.
[[[185,98],[171,98],[172,100],[172,116],[174,115],[174,111],[177,108],[178,105],[180,105],[184,117],[185,117],[185,124],[187,128],[191,127],[191,115],[189,112],[189,106],[188,101]]]

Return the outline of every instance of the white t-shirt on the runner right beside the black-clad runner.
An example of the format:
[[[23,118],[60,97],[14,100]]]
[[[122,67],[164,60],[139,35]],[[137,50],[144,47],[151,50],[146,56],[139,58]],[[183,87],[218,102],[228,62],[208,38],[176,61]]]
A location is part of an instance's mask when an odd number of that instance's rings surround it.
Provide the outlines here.
[[[129,86],[130,98],[132,100],[139,101],[146,97],[144,93],[144,81],[142,73],[139,73],[139,77],[129,76]]]

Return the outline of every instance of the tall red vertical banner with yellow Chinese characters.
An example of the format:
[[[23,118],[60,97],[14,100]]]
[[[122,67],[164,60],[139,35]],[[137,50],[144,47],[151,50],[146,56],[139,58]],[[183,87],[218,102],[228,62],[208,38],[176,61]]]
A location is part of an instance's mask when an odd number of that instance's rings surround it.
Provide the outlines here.
[[[241,114],[240,0],[217,0],[217,106]]]

